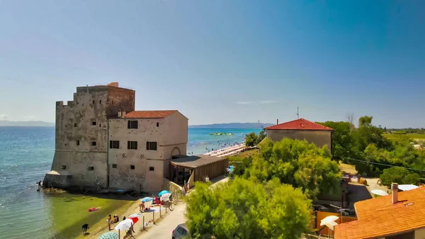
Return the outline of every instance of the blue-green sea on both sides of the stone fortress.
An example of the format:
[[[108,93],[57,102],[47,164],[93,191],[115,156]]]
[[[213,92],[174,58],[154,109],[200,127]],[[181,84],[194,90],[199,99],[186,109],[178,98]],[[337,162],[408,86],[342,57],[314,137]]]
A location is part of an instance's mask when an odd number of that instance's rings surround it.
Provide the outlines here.
[[[203,154],[260,131],[189,128],[187,152]],[[54,151],[54,127],[0,127],[0,238],[76,238],[82,224],[92,225],[131,204],[116,196],[37,191],[35,183],[50,171]],[[91,207],[101,210],[89,213]]]

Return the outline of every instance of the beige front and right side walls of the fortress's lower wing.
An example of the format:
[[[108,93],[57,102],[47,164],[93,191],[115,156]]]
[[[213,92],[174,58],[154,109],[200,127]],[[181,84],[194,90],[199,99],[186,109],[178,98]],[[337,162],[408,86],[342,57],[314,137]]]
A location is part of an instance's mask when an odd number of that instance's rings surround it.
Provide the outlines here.
[[[176,117],[172,117],[174,115]],[[108,140],[120,141],[119,149],[108,149],[110,187],[142,191],[162,189],[163,178],[169,176],[171,156],[186,155],[188,120],[181,113],[172,116],[109,119]],[[128,121],[137,121],[137,128],[129,129]],[[137,150],[129,150],[128,141],[137,141]],[[157,142],[157,150],[147,150],[147,141]],[[131,169],[131,165],[135,169]]]

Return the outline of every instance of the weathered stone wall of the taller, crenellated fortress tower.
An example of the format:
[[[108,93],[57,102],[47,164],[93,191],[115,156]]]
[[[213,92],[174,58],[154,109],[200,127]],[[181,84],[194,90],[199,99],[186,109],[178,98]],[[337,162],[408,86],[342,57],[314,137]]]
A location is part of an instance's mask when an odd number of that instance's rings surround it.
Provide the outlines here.
[[[64,184],[62,175],[46,175],[46,180],[56,184],[54,187],[108,187],[107,112],[113,111],[109,109],[108,100],[112,96],[108,96],[108,92],[113,94],[118,105],[131,104],[123,101],[133,99],[134,107],[135,91],[106,86],[77,87],[73,101],[67,101],[67,105],[64,105],[63,101],[56,102],[55,156],[52,170],[71,176],[66,177],[67,184]],[[124,97],[124,94],[128,96]],[[122,99],[117,99],[119,97]]]

